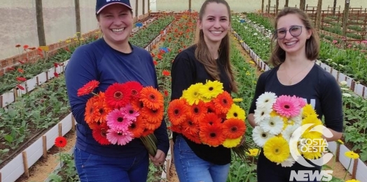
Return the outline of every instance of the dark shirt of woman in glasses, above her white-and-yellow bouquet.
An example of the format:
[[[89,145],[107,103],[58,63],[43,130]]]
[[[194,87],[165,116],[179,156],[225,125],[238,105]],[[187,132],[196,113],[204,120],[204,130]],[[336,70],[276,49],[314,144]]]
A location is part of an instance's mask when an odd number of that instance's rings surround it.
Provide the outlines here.
[[[325,126],[337,132],[342,132],[342,93],[333,75],[327,73],[319,65],[314,64],[310,72],[297,84],[285,86],[279,82],[277,70],[279,66],[265,71],[258,78],[254,100],[249,113],[254,113],[258,96],[265,91],[273,92],[277,96],[298,96],[307,100],[319,115],[324,116]]]

